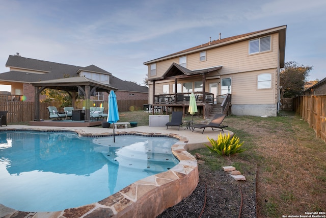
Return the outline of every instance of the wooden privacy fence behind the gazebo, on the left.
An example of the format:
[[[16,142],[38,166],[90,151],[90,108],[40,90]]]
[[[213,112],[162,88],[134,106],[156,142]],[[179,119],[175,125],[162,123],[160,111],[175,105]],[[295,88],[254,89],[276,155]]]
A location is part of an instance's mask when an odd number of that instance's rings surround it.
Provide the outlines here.
[[[148,100],[118,100],[118,110],[134,111],[143,110],[143,105],[148,104]],[[97,105],[98,104],[98,105]],[[107,102],[97,102],[96,106],[101,104],[107,112]],[[40,119],[49,119],[48,106],[56,106],[58,111],[64,111],[59,102],[40,103]],[[76,109],[82,109],[83,102],[78,102]],[[23,101],[0,101],[0,111],[8,111],[7,123],[29,122],[34,120],[35,106],[34,102]]]

